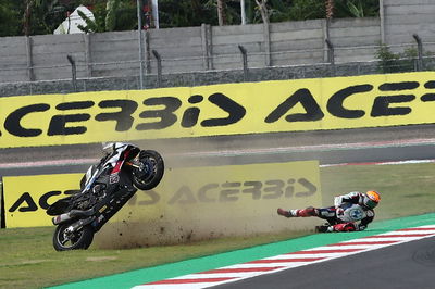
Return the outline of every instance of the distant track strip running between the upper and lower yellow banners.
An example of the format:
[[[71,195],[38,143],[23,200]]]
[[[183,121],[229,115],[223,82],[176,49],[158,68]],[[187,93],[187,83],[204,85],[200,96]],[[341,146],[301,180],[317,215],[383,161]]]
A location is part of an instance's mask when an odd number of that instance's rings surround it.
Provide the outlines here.
[[[319,160],[321,165],[435,159],[435,125],[133,141],[166,167]],[[0,177],[84,173],[101,143],[0,150]]]

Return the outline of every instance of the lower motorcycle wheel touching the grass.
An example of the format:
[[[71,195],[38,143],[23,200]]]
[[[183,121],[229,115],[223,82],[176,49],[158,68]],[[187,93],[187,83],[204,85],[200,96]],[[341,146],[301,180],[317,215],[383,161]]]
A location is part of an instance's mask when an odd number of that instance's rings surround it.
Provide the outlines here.
[[[86,250],[92,242],[94,229],[90,225],[82,227],[79,230],[74,233],[72,238],[66,238],[64,233],[71,224],[72,223],[65,223],[55,227],[53,235],[53,247],[55,251]]]

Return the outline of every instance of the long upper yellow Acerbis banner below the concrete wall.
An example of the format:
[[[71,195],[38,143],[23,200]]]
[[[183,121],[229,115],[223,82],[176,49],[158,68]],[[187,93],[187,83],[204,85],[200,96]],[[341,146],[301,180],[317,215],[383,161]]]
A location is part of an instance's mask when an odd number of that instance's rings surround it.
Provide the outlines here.
[[[0,148],[434,123],[435,73],[0,98]]]

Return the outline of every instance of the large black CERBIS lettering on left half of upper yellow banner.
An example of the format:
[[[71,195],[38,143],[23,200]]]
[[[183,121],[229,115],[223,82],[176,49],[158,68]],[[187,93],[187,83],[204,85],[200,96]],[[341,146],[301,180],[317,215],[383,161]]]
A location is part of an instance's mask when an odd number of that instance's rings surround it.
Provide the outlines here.
[[[203,97],[199,95],[191,96],[188,99],[188,102],[191,104],[202,101]],[[234,124],[240,121],[246,114],[245,108],[223,93],[213,93],[209,96],[208,101],[227,114],[227,116],[206,118],[200,122],[200,126],[202,127]],[[177,97],[160,97],[148,98],[144,100],[142,104],[144,108],[139,108],[139,104],[135,100],[129,99],[102,100],[98,104],[94,101],[63,102],[55,105],[59,114],[51,116],[48,127],[24,127],[22,121],[27,115],[45,113],[52,109],[48,103],[35,103],[9,113],[5,117],[4,128],[9,134],[16,137],[38,137],[44,134],[47,136],[83,135],[88,129],[84,124],[90,122],[91,118],[90,113],[87,113],[86,110],[98,105],[99,112],[96,114],[95,121],[115,122],[115,131],[127,131],[132,128],[139,131],[164,129],[178,122],[175,112],[182,106],[183,102]],[[147,108],[154,109],[147,110]],[[108,112],[104,112],[105,109]],[[113,109],[117,109],[119,111],[109,112],[113,111]],[[139,109],[141,110],[139,120],[135,120],[133,113]],[[77,110],[85,110],[85,112],[74,113]],[[184,128],[194,127],[199,122],[199,115],[200,109],[190,106],[183,112],[179,125]],[[74,123],[80,123],[82,125],[74,125]],[[44,129],[47,133],[44,133]]]

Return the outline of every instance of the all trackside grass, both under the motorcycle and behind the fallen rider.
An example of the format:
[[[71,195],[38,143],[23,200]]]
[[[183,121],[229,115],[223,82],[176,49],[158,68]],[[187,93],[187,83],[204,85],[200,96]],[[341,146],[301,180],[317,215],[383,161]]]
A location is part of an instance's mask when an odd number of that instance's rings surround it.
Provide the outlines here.
[[[323,204],[332,204],[335,194],[375,189],[382,194],[376,219],[435,212],[434,175],[435,164],[324,167]],[[41,288],[311,234],[285,231],[178,246],[129,250],[99,250],[92,246],[87,251],[55,252],[51,244],[53,230],[0,230],[0,288]]]

